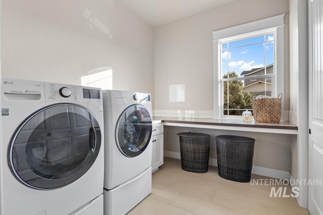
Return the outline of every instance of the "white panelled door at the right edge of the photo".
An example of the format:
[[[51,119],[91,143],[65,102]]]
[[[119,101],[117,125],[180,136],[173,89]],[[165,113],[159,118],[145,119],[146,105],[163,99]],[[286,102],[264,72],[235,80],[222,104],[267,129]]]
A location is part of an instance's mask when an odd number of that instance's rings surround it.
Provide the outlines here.
[[[309,0],[308,209],[323,214],[323,0]]]

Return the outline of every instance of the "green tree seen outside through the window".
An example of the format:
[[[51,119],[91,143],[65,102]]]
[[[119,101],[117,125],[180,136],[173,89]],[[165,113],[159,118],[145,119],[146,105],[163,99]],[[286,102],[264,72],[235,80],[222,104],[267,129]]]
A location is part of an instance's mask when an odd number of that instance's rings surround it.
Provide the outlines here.
[[[237,78],[238,74],[235,71],[229,71],[229,78]],[[228,75],[223,76],[224,79]],[[229,109],[251,109],[252,108],[252,95],[242,93],[242,81],[229,82]],[[224,82],[224,114],[228,114],[228,82]],[[241,115],[243,110],[229,110],[229,115]]]

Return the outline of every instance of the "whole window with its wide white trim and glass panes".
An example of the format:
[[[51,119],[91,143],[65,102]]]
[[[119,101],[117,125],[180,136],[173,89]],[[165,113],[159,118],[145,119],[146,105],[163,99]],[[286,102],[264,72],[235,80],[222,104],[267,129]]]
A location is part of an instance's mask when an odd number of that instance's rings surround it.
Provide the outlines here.
[[[213,32],[214,118],[241,117],[252,97],[283,93],[283,24],[280,15]]]

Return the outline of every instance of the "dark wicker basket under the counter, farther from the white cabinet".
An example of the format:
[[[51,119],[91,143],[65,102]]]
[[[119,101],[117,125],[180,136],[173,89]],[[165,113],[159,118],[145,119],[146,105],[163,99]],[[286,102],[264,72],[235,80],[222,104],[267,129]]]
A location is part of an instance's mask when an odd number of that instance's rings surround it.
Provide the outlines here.
[[[244,136],[217,136],[219,176],[232,181],[249,182],[254,141],[255,139]]]

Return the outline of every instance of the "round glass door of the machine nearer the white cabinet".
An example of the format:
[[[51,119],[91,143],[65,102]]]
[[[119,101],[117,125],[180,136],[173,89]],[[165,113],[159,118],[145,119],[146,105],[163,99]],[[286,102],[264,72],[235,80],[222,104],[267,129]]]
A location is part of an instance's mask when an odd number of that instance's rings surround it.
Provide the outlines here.
[[[122,154],[136,157],[145,151],[152,130],[151,116],[142,105],[129,106],[119,117],[116,142]]]

